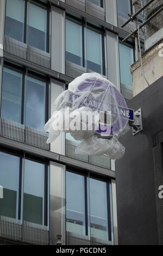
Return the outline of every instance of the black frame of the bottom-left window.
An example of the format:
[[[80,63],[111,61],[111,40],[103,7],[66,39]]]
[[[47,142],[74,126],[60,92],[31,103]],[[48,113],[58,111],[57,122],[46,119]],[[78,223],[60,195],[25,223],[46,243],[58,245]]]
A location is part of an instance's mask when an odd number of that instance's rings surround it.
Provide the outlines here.
[[[20,158],[20,169],[19,169],[19,188],[18,188],[18,220],[23,221],[23,187],[22,187],[22,172],[23,172],[23,161],[24,160],[31,160],[34,162],[42,163],[45,165],[45,191],[44,191],[44,196],[45,196],[45,202],[43,204],[43,211],[44,211],[44,218],[43,218],[43,224],[49,227],[49,209],[48,209],[48,201],[49,201],[49,184],[48,184],[48,176],[49,176],[49,162],[47,160],[42,161],[39,157],[35,157],[29,154],[23,154],[21,152],[17,152],[12,149],[7,149],[4,147],[0,147],[0,151],[6,154],[14,155]]]

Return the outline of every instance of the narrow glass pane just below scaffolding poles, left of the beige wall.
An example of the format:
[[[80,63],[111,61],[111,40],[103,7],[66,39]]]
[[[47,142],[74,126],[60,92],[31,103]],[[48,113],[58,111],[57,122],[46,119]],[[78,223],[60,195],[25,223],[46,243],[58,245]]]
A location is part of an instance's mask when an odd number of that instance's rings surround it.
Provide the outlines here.
[[[120,44],[120,73],[121,83],[133,86],[132,75],[130,72],[130,66],[134,63],[133,48]]]

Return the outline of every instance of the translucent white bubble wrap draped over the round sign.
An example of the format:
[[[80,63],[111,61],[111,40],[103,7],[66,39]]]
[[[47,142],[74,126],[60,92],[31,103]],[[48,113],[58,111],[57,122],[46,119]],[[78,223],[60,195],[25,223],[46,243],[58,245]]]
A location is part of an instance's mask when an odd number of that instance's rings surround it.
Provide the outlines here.
[[[68,86],[68,90],[62,92],[54,102],[55,109],[52,118],[45,125],[45,131],[49,132],[47,143],[53,142],[60,131],[70,132],[71,136],[78,141],[82,141],[76,149],[76,154],[103,155],[110,159],[121,159],[125,153],[125,148],[118,141],[118,138],[129,130],[128,120],[121,118],[118,106],[127,108],[126,101],[120,96],[114,84],[97,73],[83,74],[74,79]],[[100,111],[111,111],[112,138],[104,139],[97,136],[95,130],[64,130],[64,123],[68,118],[65,109],[73,113],[78,110],[91,111],[96,119],[96,113]],[[63,114],[63,127],[59,130],[53,129],[58,122],[58,114]],[[80,120],[82,123],[83,120]],[[70,127],[69,127],[70,128]]]

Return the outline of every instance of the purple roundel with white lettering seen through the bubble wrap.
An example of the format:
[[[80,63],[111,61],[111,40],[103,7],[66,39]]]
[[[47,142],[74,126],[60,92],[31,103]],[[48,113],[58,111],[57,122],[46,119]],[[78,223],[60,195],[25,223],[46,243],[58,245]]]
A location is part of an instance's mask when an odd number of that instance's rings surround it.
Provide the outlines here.
[[[82,101],[80,102],[80,97]],[[98,111],[100,121],[96,131],[100,136],[110,137],[123,131],[130,119],[130,110],[117,88],[103,77],[86,78],[78,85],[76,92],[70,93],[70,102],[78,107],[89,107]]]

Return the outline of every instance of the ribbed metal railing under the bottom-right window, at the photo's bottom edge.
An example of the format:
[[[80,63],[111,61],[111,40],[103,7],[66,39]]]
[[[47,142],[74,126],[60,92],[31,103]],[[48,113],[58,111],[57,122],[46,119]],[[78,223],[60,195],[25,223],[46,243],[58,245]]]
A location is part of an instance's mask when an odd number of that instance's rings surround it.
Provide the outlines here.
[[[112,245],[112,241],[66,231],[66,245]]]

